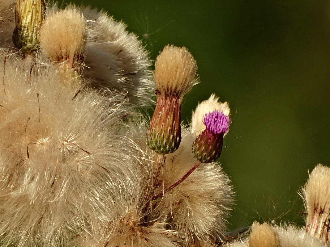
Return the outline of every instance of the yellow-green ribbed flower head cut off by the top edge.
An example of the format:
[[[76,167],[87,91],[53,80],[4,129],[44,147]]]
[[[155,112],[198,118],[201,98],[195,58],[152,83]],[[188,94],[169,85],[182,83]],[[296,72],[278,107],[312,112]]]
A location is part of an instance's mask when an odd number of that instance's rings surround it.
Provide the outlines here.
[[[17,49],[22,49],[24,56],[38,48],[38,32],[44,17],[44,0],[17,0],[13,42]]]

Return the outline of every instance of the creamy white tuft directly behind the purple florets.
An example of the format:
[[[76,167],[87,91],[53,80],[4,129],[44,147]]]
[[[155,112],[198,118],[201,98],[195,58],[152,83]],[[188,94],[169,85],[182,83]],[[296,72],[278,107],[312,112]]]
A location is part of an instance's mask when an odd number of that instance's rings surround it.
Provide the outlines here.
[[[212,94],[209,99],[198,103],[196,110],[192,112],[190,124],[190,129],[194,136],[200,135],[206,128],[205,124],[203,124],[205,114],[208,114],[215,110],[223,112],[223,114],[226,116],[230,116],[230,108],[228,106],[228,103],[219,102],[219,97],[216,97],[215,94]],[[226,132],[223,136],[225,136],[227,133],[228,132]]]

